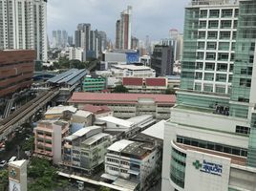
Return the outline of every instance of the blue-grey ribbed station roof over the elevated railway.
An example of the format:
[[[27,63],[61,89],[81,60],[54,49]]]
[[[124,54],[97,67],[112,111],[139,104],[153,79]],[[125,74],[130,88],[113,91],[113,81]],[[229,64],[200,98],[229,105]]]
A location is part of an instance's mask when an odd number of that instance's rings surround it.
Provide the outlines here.
[[[80,78],[86,75],[85,69],[71,69],[65,73],[57,74],[53,78],[49,79],[48,82],[50,83],[66,83],[69,85],[74,85]]]

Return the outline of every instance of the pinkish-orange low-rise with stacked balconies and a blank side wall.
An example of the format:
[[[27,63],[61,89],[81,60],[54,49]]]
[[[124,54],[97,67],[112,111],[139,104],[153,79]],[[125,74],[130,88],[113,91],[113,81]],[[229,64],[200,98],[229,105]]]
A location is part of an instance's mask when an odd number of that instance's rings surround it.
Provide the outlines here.
[[[42,120],[33,129],[34,153],[54,163],[61,161],[63,138],[69,135],[69,123],[62,120]]]

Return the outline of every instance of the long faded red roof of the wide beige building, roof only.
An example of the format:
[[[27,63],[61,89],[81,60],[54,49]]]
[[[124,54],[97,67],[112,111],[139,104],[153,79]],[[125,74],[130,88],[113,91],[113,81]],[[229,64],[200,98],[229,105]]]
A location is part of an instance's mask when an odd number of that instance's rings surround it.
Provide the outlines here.
[[[103,94],[103,93],[74,93],[71,103],[137,103],[139,98],[152,98],[160,104],[175,104],[174,95],[149,94]]]

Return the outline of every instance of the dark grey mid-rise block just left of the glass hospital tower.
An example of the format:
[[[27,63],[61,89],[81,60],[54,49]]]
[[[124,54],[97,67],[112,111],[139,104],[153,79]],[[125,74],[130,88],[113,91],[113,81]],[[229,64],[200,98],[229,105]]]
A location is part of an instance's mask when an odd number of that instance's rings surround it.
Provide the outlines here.
[[[172,46],[156,45],[151,56],[151,68],[157,76],[173,74],[173,48]]]

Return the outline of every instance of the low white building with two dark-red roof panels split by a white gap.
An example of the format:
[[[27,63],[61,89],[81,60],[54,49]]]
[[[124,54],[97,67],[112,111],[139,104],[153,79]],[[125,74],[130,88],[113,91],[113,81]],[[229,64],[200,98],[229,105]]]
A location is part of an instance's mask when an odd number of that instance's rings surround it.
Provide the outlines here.
[[[167,87],[167,78],[165,77],[123,77],[122,85],[125,86],[129,93],[148,93],[164,94]]]

